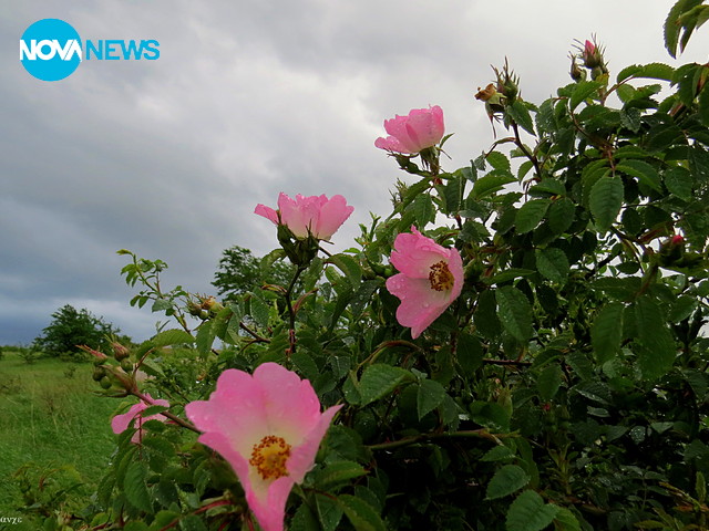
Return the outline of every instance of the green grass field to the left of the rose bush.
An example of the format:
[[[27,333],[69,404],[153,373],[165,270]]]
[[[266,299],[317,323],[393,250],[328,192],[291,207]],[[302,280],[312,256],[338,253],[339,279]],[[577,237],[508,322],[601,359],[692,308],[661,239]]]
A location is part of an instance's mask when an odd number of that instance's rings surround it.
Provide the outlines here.
[[[37,492],[101,479],[115,446],[110,419],[121,400],[92,393],[99,386],[91,369],[90,363],[59,360],[27,364],[6,348],[0,360],[0,517],[24,518],[22,524],[0,523],[0,529],[33,529],[16,473],[25,464],[33,464],[25,476]],[[52,470],[59,471],[48,475]]]

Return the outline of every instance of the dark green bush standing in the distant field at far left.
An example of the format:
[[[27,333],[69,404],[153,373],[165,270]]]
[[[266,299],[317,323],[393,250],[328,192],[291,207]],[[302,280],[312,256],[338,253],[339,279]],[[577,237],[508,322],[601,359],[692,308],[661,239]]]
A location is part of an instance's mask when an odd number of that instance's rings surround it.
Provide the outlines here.
[[[94,316],[88,310],[76,310],[71,304],[65,304],[52,314],[52,322],[42,331],[42,335],[34,340],[34,345],[52,357],[83,356],[76,345],[102,350],[117,332],[112,324]]]

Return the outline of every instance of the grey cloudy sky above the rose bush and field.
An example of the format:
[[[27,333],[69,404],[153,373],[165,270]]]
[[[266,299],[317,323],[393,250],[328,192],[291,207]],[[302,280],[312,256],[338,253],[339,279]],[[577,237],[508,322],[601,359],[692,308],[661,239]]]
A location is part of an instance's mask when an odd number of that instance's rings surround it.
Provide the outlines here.
[[[395,164],[382,122],[440,105],[452,160],[493,138],[477,86],[508,58],[541,103],[569,82],[575,39],[596,33],[612,73],[671,61],[668,0],[0,0],[0,344],[27,343],[64,304],[134,340],[158,314],[129,305],[122,248],[169,264],[166,285],[212,293],[222,251],[264,254],[275,228],[253,214],[289,195],[343,195],[388,214]],[[18,60],[44,18],[82,39],[155,39],[156,61],[84,61],[42,82]],[[707,35],[682,62],[706,61]]]

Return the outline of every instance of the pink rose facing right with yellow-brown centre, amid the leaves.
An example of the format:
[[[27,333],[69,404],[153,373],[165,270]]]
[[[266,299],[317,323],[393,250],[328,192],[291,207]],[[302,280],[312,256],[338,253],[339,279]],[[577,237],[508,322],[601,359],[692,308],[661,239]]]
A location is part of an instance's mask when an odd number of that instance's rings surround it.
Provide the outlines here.
[[[400,273],[387,279],[387,289],[401,299],[397,321],[417,339],[461,294],[463,260],[458,249],[445,249],[414,227],[394,240],[390,261]]]

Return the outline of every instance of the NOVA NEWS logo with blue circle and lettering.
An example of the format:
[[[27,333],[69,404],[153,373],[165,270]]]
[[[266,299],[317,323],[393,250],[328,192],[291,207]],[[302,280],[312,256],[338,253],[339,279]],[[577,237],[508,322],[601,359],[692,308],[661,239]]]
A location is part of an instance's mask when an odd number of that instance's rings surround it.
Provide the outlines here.
[[[160,42],[154,39],[86,39],[85,45],[82,45],[79,33],[71,24],[59,19],[42,19],[22,33],[20,62],[38,80],[59,81],[71,75],[83,60],[154,61],[160,58],[158,46]]]

